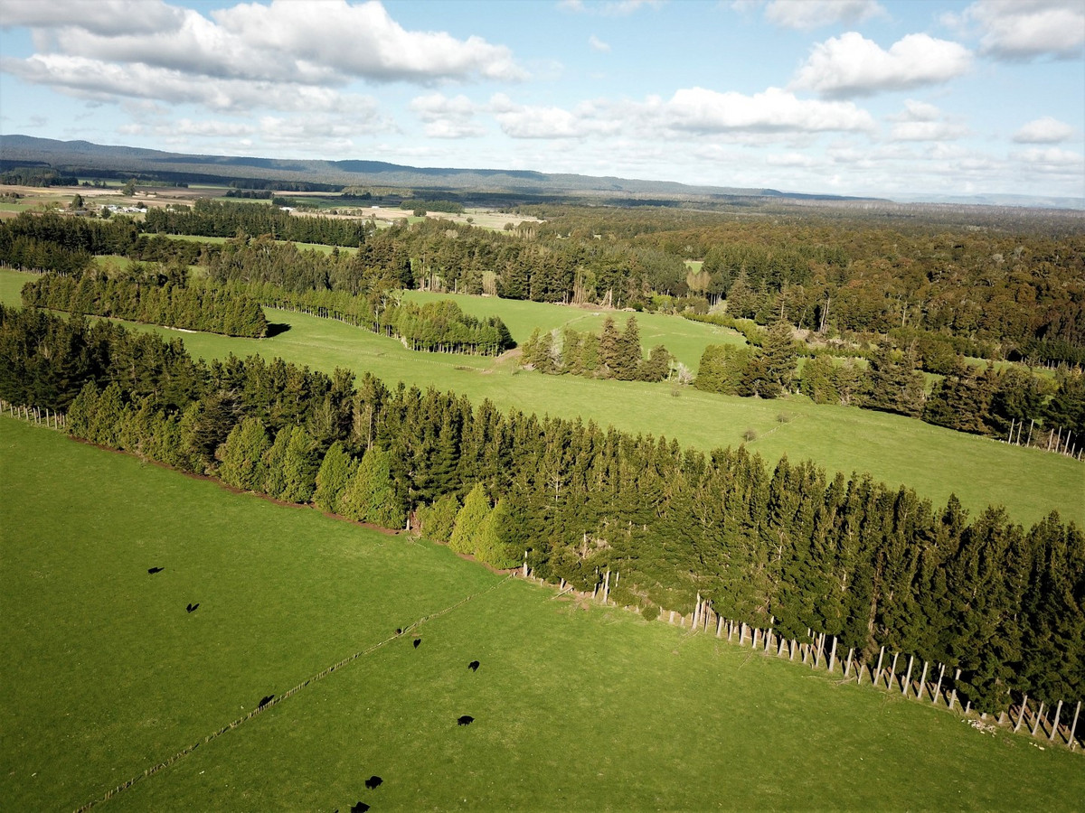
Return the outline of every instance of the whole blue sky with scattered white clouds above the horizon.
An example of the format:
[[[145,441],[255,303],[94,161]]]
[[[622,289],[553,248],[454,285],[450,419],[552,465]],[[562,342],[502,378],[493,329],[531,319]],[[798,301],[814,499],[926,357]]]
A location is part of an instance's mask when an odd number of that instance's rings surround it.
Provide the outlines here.
[[[1085,0],[0,0],[0,132],[1085,197]]]

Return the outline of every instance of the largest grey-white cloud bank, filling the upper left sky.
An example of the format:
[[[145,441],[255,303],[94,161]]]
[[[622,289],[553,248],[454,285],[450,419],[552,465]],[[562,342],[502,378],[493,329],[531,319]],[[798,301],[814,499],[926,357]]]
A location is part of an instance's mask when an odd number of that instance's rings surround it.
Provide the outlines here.
[[[355,5],[326,0],[319,13],[303,2],[239,4],[210,12],[212,18],[158,0],[9,0],[3,8],[5,24],[50,31],[37,37],[41,53],[5,59],[4,70],[101,101],[120,95],[212,109],[293,111],[309,104],[330,109],[334,88],[356,78],[431,85],[526,77],[503,46],[480,37],[408,31],[375,0]]]

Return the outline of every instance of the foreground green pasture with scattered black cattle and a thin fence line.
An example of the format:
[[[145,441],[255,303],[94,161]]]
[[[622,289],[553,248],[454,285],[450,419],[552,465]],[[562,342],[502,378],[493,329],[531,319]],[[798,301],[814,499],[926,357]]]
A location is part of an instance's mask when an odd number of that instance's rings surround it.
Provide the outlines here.
[[[0,470],[9,810],[99,799],[385,641],[100,809],[1074,810],[1085,798],[1081,754],[554,601],[442,546],[11,418]],[[460,714],[475,722],[457,726]],[[373,774],[384,784],[367,790]]]

